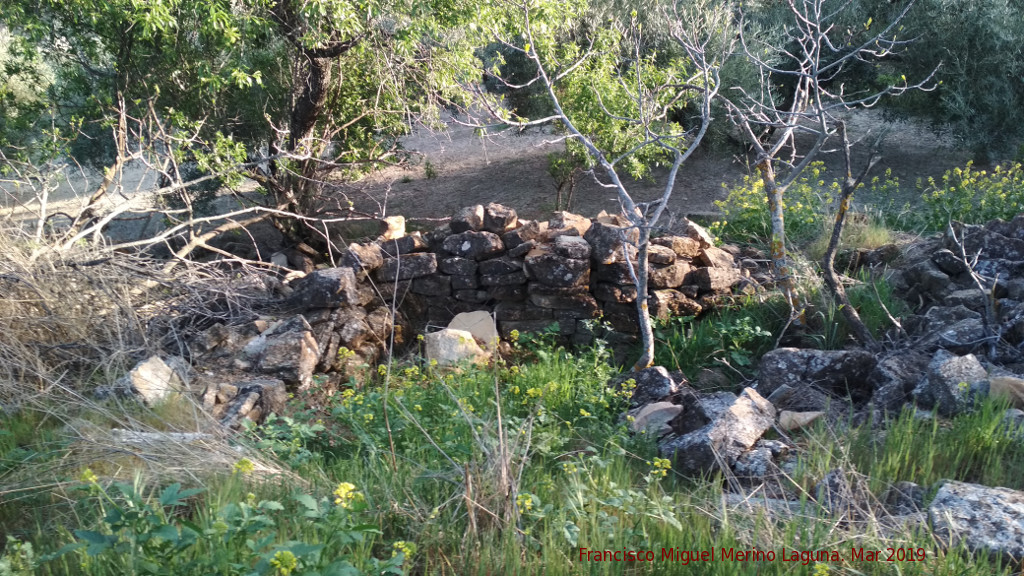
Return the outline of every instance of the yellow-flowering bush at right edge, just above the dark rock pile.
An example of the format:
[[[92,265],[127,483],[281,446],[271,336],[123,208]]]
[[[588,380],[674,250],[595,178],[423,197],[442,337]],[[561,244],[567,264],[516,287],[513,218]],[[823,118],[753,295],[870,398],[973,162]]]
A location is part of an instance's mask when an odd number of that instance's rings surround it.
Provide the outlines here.
[[[946,171],[941,182],[929,178],[922,199],[923,219],[930,230],[945,230],[950,220],[977,224],[1012,219],[1024,212],[1024,165],[1018,162],[988,171],[969,162]]]

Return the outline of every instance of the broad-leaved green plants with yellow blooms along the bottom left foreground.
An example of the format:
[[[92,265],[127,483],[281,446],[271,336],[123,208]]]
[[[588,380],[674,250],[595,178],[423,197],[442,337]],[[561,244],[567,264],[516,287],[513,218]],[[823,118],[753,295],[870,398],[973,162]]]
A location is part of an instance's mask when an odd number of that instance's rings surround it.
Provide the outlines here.
[[[241,472],[246,474],[246,472]],[[341,483],[331,496],[296,493],[281,500],[244,499],[190,507],[202,490],[171,484],[144,494],[141,485],[103,486],[89,470],[85,488],[101,515],[94,530],[40,559],[42,571],[92,575],[358,575],[402,574],[401,550],[368,554],[379,531],[366,521],[362,493]],[[292,539],[289,536],[300,539]],[[30,548],[31,549],[31,548]],[[402,551],[404,550],[404,551]]]

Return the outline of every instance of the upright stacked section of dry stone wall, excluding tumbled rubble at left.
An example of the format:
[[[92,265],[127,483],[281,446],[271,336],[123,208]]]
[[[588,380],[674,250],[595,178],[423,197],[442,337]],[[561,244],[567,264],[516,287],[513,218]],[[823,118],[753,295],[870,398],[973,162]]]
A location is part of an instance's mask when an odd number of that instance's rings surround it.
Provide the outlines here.
[[[606,213],[591,219],[558,212],[536,221],[521,220],[500,204],[471,206],[426,234],[392,231],[389,240],[350,245],[338,268],[296,283],[290,301],[336,308],[331,330],[317,330],[310,320],[318,341],[331,342],[327,351],[345,346],[360,356],[369,353],[365,344],[380,343],[385,335],[352,324],[382,306],[398,311],[398,324],[416,331],[445,326],[460,313],[486,311],[503,337],[554,327],[567,340],[586,343],[594,336],[588,321],[602,319],[612,339],[628,341],[638,328],[637,250],[623,240],[637,238],[624,218]],[[723,294],[756,285],[736,264],[738,251],[713,246],[695,224],[685,236],[652,244],[651,312],[658,318],[697,316]],[[351,337],[364,332],[366,337]]]

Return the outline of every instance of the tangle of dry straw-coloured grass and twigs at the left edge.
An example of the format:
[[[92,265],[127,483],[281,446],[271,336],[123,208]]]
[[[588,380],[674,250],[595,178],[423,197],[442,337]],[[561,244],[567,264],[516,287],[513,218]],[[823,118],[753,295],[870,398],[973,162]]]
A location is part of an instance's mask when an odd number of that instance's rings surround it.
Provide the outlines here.
[[[259,474],[286,475],[221,430],[195,395],[154,407],[95,399],[142,358],[187,357],[191,334],[252,318],[267,297],[245,269],[189,264],[169,276],[162,264],[88,247],[53,251],[0,230],[0,407],[38,414],[47,430],[32,461],[0,474],[0,500],[74,483],[84,468],[197,484],[245,457]]]

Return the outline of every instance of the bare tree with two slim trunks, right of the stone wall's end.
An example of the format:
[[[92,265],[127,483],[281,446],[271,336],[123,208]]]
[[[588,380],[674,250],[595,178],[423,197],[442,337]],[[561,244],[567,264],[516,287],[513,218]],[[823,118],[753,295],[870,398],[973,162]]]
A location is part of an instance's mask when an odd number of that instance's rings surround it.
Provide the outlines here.
[[[908,2],[891,22],[879,25],[871,19],[855,23],[854,4],[845,0],[786,0],[788,25],[786,42],[777,46],[743,33],[743,52],[761,73],[758,92],[738,90],[726,100],[732,122],[740,129],[755,156],[755,165],[767,194],[771,217],[771,259],[778,285],[794,305],[795,320],[802,316],[798,286],[785,246],[783,202],[786,189],[824,152],[838,141],[846,160],[836,222],[828,249],[822,260],[825,285],[840,304],[855,336],[863,343],[873,341],[857,311],[850,305],[835,271],[836,250],[853,194],[876,162],[870,161],[854,175],[851,141],[842,114],[869,108],[883,97],[930,88],[932,74],[910,83],[895,72],[880,74],[883,84],[862,83],[851,87],[844,80],[850,69],[870,65],[890,69],[892,56],[910,40],[900,36],[900,23],[913,2]],[[892,78],[894,81],[885,82]],[[778,87],[792,90],[779,97]],[[811,139],[808,145],[807,140]]]

